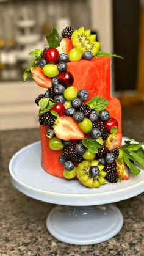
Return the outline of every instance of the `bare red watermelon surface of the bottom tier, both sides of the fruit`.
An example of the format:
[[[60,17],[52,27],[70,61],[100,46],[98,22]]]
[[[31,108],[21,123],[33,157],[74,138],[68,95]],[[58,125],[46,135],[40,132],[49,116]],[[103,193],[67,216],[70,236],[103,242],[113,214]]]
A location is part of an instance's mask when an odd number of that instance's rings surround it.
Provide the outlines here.
[[[114,117],[118,121],[118,131],[121,131],[121,104],[117,98],[111,98],[107,110],[110,112],[110,117]],[[63,166],[59,163],[59,157],[62,155],[62,150],[54,151],[49,148],[49,138],[46,137],[48,126],[40,125],[41,137],[41,166],[49,174],[63,177]]]

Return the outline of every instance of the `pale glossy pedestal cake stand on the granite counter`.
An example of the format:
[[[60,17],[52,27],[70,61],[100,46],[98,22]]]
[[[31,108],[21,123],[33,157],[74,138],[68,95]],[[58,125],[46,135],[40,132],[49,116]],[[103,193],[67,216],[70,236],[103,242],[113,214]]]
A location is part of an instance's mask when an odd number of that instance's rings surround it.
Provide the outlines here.
[[[110,203],[144,191],[144,171],[122,183],[97,189],[76,180],[63,180],[41,168],[41,146],[36,142],[18,151],[9,164],[16,189],[43,202],[58,204],[48,215],[46,227],[55,238],[69,244],[96,244],[117,235],[123,215]]]

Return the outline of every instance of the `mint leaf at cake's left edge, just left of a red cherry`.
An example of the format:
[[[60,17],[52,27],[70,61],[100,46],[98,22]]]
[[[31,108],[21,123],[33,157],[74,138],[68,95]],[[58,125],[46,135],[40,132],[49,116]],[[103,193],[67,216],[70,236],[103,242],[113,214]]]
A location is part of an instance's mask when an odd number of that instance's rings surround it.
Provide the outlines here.
[[[56,102],[54,100],[52,100],[51,98],[42,98],[39,101],[39,107],[40,107],[39,115],[42,115],[45,112],[48,112],[55,105],[56,105]]]

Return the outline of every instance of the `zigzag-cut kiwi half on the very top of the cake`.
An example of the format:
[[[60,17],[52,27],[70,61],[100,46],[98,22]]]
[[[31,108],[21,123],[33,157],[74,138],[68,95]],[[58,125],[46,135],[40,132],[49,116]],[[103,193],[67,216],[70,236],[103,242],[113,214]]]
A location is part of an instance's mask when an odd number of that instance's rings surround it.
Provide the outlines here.
[[[91,35],[90,29],[84,30],[84,27],[74,30],[71,41],[73,47],[80,49],[82,53],[92,51],[93,56],[96,56],[100,49],[100,43],[96,41],[96,35]]]

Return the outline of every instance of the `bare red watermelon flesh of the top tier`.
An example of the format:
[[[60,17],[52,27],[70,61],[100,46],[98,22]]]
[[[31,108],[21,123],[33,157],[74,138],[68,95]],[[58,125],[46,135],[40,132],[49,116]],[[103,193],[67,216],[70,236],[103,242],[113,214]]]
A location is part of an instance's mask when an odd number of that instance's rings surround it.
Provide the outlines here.
[[[68,71],[74,76],[73,86],[78,90],[88,90],[90,93],[88,100],[94,95],[110,100],[110,57],[68,62]]]

